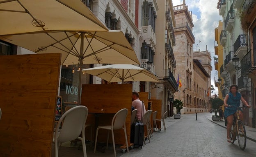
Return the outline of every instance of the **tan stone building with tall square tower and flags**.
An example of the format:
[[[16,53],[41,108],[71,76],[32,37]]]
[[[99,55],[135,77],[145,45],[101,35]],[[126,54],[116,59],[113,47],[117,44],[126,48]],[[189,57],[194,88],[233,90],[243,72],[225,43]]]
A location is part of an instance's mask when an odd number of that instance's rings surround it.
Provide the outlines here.
[[[210,92],[210,53],[207,51],[193,52],[195,38],[193,35],[192,12],[183,0],[183,4],[174,6],[176,27],[174,34],[176,46],[174,56],[176,59],[176,78],[181,80],[182,86],[174,94],[174,99],[183,102],[181,113],[196,113],[209,110]],[[194,57],[195,56],[195,57]],[[196,57],[197,56],[197,57]],[[204,56],[205,59],[200,59]],[[198,58],[198,59],[196,59]]]

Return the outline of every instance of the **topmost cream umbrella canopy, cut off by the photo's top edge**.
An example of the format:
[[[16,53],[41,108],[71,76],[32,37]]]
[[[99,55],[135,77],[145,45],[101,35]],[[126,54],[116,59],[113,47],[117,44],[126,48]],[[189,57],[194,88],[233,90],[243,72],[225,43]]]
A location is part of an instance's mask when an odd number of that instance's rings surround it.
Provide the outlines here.
[[[108,30],[80,0],[0,0],[0,19],[0,35]]]

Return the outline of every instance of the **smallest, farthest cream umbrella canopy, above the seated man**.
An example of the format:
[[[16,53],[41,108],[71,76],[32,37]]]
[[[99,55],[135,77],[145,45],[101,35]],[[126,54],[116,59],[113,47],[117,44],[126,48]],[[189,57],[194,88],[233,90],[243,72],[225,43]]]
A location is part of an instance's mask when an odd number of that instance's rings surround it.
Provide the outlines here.
[[[82,70],[108,82],[146,81],[160,82],[155,75],[132,64],[112,64]]]

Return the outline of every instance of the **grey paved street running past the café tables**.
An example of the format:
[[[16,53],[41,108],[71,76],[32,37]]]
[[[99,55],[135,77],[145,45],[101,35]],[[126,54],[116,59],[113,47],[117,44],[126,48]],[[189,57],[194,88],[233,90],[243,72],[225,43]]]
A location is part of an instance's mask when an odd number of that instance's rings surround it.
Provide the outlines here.
[[[210,113],[181,115],[181,119],[173,117],[165,119],[167,132],[153,133],[151,143],[146,140],[142,149],[134,148],[130,153],[121,153],[117,148],[118,157],[256,157],[256,143],[247,139],[245,150],[240,150],[238,142],[226,142],[226,128],[222,123],[211,121]],[[251,132],[250,132],[251,131]],[[255,131],[255,132],[253,132]],[[247,130],[248,135],[254,136],[255,128]],[[254,139],[256,137],[254,136]],[[72,155],[71,155],[72,154]],[[82,157],[82,149],[62,147],[59,157]],[[87,156],[112,157],[110,147],[105,153],[100,150],[94,154],[92,147],[87,146]],[[53,155],[54,157],[54,155]]]

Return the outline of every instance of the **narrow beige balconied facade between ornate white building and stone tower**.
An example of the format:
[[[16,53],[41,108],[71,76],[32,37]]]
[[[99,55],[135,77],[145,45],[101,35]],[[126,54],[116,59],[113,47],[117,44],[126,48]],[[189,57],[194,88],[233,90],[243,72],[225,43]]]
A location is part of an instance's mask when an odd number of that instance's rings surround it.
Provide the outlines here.
[[[174,77],[176,60],[173,47],[175,46],[174,10],[171,0],[158,1],[158,18],[156,19],[156,53],[154,55],[155,75],[160,83],[151,83],[151,99],[162,100],[162,113],[167,111],[167,116],[174,113],[173,98],[177,89]]]

